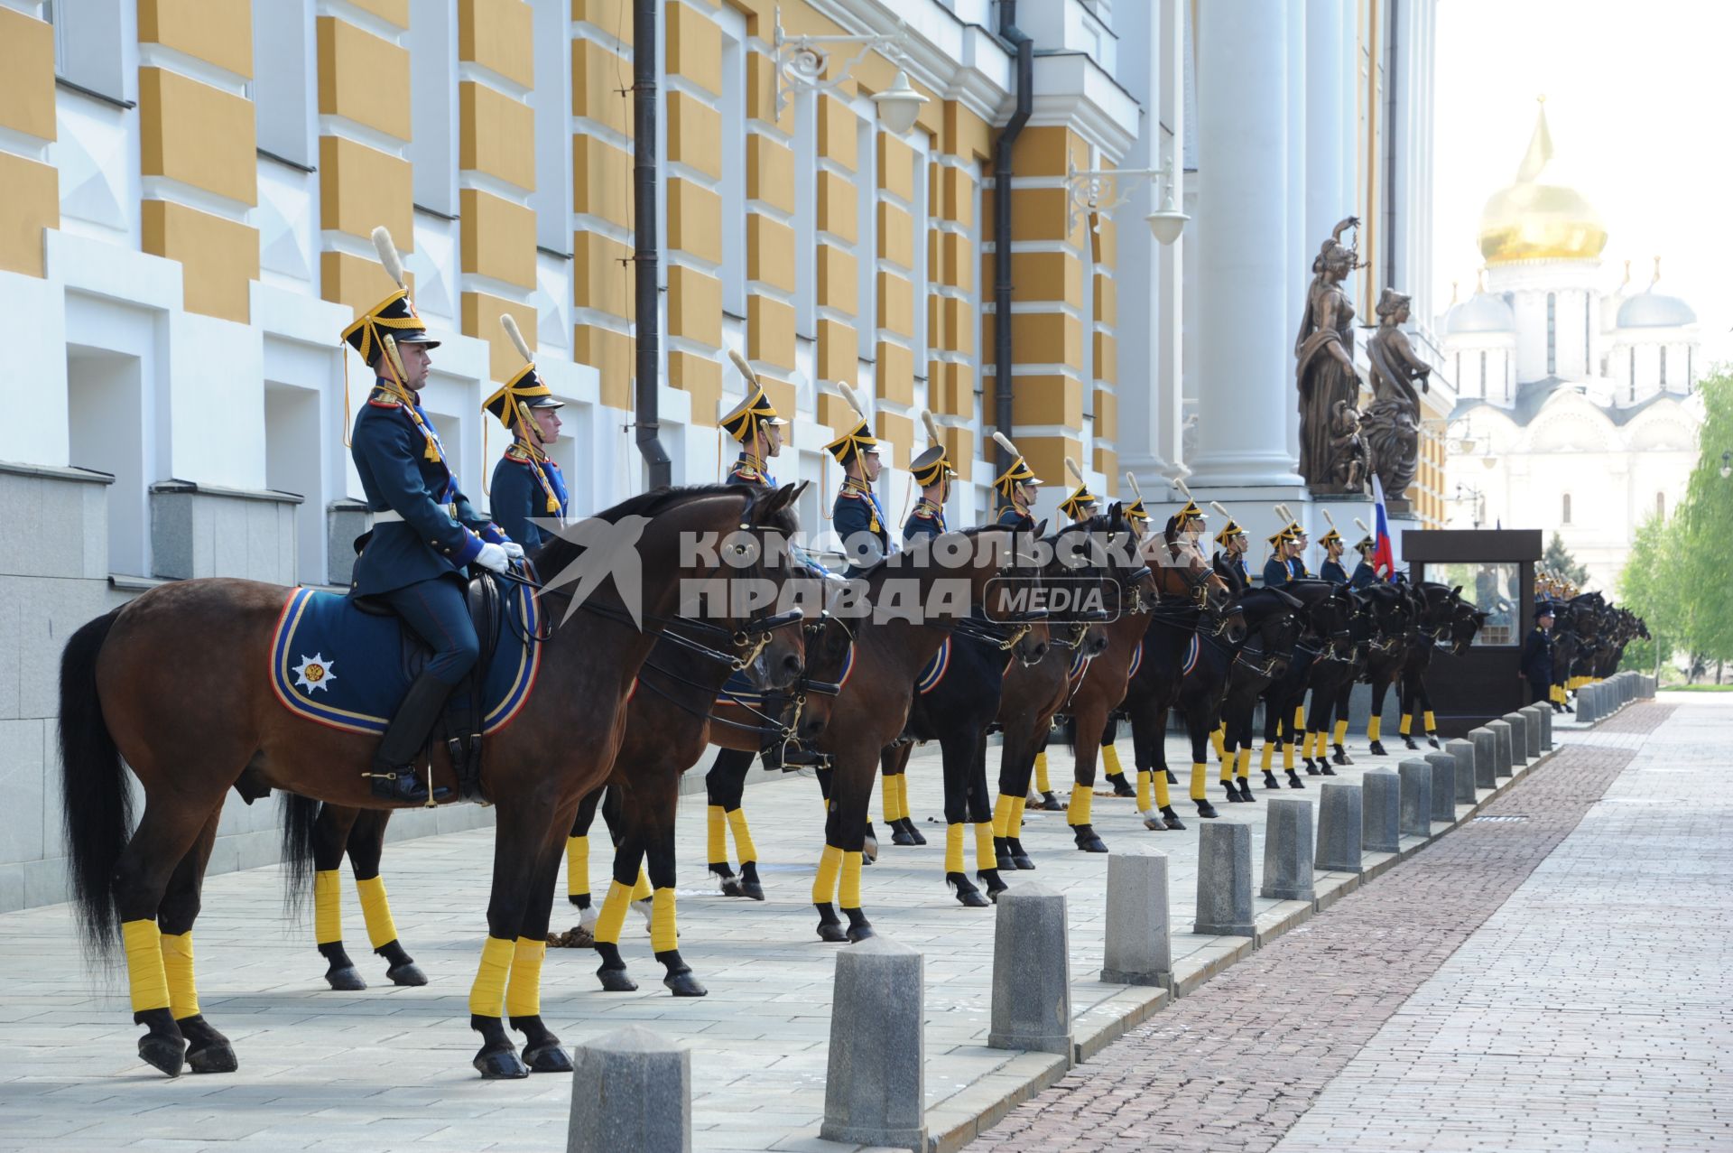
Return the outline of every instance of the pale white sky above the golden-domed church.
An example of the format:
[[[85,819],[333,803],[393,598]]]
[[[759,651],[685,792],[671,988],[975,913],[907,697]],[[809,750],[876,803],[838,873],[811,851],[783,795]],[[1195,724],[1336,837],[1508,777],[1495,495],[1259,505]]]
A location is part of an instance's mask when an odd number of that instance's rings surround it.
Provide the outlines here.
[[[1709,361],[1733,361],[1733,3],[1444,0],[1438,5],[1433,267],[1475,286],[1487,198],[1515,179],[1546,95],[1555,160],[1606,224],[1606,286],[1697,310]]]

